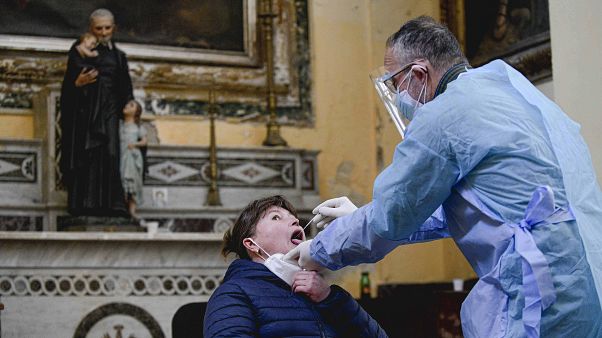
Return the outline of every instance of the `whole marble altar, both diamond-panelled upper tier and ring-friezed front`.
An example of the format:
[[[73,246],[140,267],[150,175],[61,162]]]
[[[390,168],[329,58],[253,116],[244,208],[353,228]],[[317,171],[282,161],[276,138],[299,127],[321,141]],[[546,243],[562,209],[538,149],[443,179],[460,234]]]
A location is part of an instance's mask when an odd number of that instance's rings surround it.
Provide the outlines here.
[[[246,203],[280,194],[306,221],[319,202],[317,151],[220,149],[222,205],[207,206],[208,148],[154,145],[139,211],[147,227],[74,232],[64,191],[45,194],[55,172],[43,144],[0,141],[2,337],[171,337],[177,311],[219,286],[222,235]]]

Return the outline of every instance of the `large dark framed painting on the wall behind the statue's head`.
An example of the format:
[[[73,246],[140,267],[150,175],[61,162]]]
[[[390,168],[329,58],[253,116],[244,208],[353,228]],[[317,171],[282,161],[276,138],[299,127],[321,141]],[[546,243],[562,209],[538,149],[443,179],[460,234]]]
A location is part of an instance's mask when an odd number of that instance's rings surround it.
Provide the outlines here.
[[[0,48],[66,52],[96,8],[131,59],[258,66],[256,0],[4,0]]]

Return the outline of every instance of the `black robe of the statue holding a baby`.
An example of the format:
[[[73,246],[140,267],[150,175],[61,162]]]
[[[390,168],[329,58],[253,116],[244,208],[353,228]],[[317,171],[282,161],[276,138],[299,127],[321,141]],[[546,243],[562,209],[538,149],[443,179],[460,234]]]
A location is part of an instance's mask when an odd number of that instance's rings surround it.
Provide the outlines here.
[[[68,192],[68,210],[74,216],[127,215],[119,173],[119,119],[133,98],[125,53],[99,45],[94,58],[99,74],[95,83],[75,86],[90,60],[75,44],[69,50],[61,88],[60,165]]]

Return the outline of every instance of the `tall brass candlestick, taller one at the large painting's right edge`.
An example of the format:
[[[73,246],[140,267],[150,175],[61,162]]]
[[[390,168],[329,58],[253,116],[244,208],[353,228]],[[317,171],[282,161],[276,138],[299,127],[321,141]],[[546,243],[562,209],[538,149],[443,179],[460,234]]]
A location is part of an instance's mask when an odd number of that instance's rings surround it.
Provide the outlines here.
[[[267,124],[267,135],[263,141],[264,146],[287,146],[286,141],[280,135],[280,125],[276,119],[276,93],[274,92],[274,47],[273,47],[273,24],[272,0],[262,0],[259,17],[261,18],[263,33],[263,50],[266,60],[266,103],[269,112]]]

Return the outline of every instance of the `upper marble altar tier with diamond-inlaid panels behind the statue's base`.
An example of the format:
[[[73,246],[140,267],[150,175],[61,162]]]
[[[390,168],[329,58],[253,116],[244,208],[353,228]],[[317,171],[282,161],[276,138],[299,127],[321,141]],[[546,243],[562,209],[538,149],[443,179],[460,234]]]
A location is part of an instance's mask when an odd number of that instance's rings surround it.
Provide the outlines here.
[[[67,194],[48,151],[41,140],[0,139],[0,231],[144,231],[127,217],[69,215]],[[250,201],[283,195],[300,218],[313,217],[311,210],[320,203],[318,151],[219,148],[222,206],[205,205],[211,189],[209,155],[205,147],[149,145],[138,216],[158,222],[159,232],[223,233]]]

